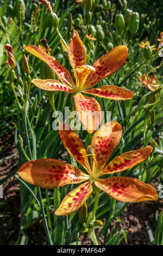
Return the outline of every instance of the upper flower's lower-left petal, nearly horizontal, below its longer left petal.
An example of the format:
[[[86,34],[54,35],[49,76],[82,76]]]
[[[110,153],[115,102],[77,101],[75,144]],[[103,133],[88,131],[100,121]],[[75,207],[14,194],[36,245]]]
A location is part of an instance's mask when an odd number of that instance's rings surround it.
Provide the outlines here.
[[[65,92],[65,93],[74,92],[74,90],[71,89],[69,86],[57,80],[51,80],[51,79],[42,80],[42,79],[35,78],[32,80],[32,83],[34,83],[36,87],[39,87],[40,89],[43,89],[43,90],[49,90],[49,91],[60,90],[61,92]]]

